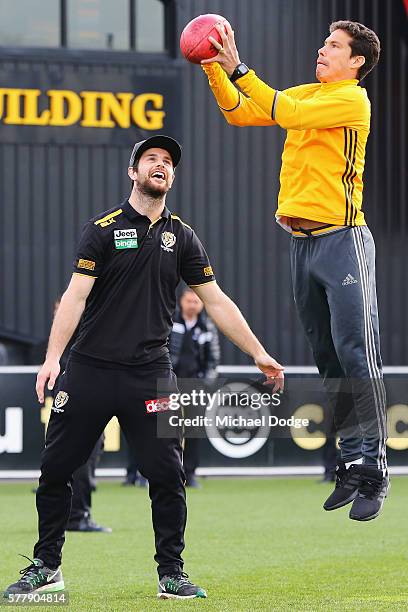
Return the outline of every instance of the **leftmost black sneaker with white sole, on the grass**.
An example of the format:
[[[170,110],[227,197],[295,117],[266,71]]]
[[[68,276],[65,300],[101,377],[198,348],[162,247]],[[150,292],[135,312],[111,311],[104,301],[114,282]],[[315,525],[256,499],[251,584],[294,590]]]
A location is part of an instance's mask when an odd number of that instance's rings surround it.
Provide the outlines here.
[[[25,557],[25,555],[21,556]],[[4,592],[6,599],[14,593],[54,593],[64,590],[64,580],[60,568],[52,570],[45,567],[41,559],[25,558],[31,561],[31,564],[20,570],[20,574],[22,574],[20,580],[7,587]]]

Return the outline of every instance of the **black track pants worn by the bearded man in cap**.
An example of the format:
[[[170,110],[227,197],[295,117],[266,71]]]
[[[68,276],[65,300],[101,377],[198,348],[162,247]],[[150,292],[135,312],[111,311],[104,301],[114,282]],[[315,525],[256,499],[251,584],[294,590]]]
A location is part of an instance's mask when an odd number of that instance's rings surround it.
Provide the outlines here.
[[[72,474],[117,416],[129,445],[137,449],[140,472],[149,481],[159,575],[183,568],[187,510],[181,444],[178,438],[157,437],[157,414],[148,414],[145,406],[157,397],[157,379],[168,381],[169,393],[177,392],[168,362],[108,369],[69,360],[58,387],[69,399],[61,412],[51,412],[37,490],[39,540],[34,556],[46,566],[61,563]]]

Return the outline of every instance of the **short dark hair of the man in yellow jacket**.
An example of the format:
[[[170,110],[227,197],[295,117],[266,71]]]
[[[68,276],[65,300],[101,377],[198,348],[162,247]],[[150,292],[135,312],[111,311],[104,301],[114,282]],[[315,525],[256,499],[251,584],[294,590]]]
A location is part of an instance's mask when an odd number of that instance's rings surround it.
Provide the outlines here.
[[[351,36],[351,57],[365,57],[364,64],[357,72],[357,78],[361,81],[378,63],[381,45],[377,34],[357,21],[333,21],[330,33],[334,30],[344,30]]]

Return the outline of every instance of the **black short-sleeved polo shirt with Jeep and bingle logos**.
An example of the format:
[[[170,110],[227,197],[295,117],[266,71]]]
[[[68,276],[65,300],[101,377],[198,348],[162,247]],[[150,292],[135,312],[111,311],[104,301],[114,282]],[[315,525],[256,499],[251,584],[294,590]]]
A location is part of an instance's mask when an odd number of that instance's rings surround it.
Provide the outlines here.
[[[96,278],[72,354],[139,365],[168,353],[180,278],[215,280],[193,229],[164,209],[154,223],[128,201],[84,227],[74,273]]]

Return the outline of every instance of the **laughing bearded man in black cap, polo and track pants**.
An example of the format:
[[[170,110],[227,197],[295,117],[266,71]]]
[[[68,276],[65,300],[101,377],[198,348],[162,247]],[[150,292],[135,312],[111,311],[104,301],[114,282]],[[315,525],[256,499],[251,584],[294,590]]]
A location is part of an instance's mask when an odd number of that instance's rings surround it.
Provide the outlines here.
[[[177,391],[167,339],[180,278],[194,288],[219,329],[254,358],[275,389],[283,386],[283,368],[218,287],[194,231],[165,206],[180,157],[180,145],[167,136],[137,143],[128,169],[133,180],[129,200],[84,227],[74,274],[55,315],[37,378],[38,400],[43,403],[45,384],[48,381],[50,390],[54,387],[59,359],[81,320],[58,381],[42,456],[39,539],[33,561],[6,596],[64,588],[60,564],[72,473],[117,416],[149,481],[158,597],[206,597],[183,572],[186,502],[180,439],[158,437],[158,414],[151,412],[158,379],[168,394]]]

